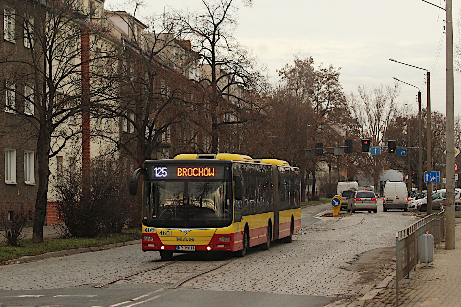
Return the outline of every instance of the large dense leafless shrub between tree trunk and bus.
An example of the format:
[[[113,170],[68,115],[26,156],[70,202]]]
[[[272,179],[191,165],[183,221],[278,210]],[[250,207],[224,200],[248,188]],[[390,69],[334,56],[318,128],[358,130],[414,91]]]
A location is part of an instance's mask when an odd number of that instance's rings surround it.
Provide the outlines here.
[[[96,162],[91,166],[89,190],[80,175],[68,176],[56,186],[62,232],[68,237],[95,237],[100,232],[120,233],[132,221],[135,202],[128,195],[128,179],[117,166]]]

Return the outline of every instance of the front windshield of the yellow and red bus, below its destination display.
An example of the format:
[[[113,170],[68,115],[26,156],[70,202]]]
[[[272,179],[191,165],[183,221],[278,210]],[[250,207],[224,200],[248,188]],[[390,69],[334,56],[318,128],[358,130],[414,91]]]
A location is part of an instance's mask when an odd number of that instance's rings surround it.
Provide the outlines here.
[[[232,222],[232,185],[221,181],[145,181],[143,222],[160,228],[214,228]]]

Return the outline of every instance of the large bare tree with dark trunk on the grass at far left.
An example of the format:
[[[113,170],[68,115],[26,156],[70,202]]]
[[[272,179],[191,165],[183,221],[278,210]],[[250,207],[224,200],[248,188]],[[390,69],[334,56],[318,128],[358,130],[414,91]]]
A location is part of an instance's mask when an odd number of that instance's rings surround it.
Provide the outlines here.
[[[12,125],[5,130],[12,133],[28,125],[36,138],[38,191],[32,240],[40,243],[47,207],[49,159],[81,133],[78,126],[71,128],[69,123],[76,122],[83,110],[83,130],[88,130],[86,110],[91,103],[107,99],[106,93],[116,86],[92,79],[96,66],[108,66],[104,59],[116,45],[100,41],[101,37],[110,38],[100,24],[101,12],[93,6],[82,7],[80,0],[6,2],[12,8],[10,18],[18,31],[4,35],[24,41],[28,52],[21,58],[14,52],[0,54],[1,77],[6,80],[2,91],[11,97],[2,102],[2,107],[20,118],[11,121]],[[89,135],[88,131],[85,134]]]

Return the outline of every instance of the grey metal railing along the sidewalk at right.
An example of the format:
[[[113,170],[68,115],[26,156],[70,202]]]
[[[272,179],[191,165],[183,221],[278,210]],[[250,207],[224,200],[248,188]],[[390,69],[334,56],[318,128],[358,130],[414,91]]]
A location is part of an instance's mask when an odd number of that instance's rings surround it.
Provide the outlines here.
[[[416,271],[416,264],[420,261],[420,235],[428,231],[434,236],[435,245],[445,237],[445,209],[443,206],[440,209],[440,213],[428,215],[396,232],[396,306],[399,306],[399,281],[405,275],[409,278],[410,271]]]

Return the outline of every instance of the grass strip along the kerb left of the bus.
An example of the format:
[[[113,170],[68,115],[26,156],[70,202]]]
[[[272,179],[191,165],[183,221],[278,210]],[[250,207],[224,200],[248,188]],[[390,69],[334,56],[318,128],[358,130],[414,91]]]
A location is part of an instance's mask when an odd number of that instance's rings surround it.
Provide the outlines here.
[[[94,238],[44,239],[43,243],[32,243],[31,239],[20,241],[21,247],[7,246],[0,242],[0,262],[17,259],[23,256],[35,256],[66,249],[103,246],[112,243],[128,242],[141,239],[141,229],[123,230],[122,233],[106,234]]]

